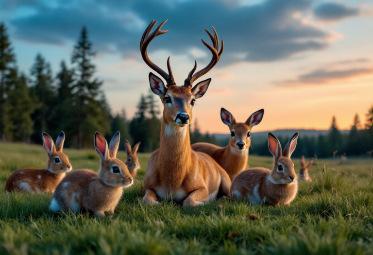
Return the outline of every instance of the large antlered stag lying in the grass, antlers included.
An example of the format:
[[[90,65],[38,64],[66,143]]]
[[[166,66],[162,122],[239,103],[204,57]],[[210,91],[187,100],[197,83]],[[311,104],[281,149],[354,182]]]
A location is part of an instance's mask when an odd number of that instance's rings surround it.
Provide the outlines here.
[[[183,207],[195,207],[215,201],[219,194],[229,195],[231,180],[228,174],[208,154],[194,152],[190,146],[189,123],[192,119],[192,109],[196,99],[201,98],[211,82],[211,78],[193,83],[219,61],[224,50],[221,40],[213,28],[212,35],[205,29],[212,40],[212,46],[203,44],[211,51],[210,63],[196,72],[197,61],[189,72],[184,85],[177,86],[170,67],[170,57],[167,60],[168,73],[155,65],[148,56],[149,43],[158,35],[167,33],[160,30],[167,20],[163,21],[150,34],[157,21],[152,21],[146,28],[140,41],[140,51],[144,62],[166,81],[152,72],[149,73],[151,90],[158,95],[163,103],[163,117],[159,148],[149,159],[145,173],[142,203],[160,204],[161,201],[173,201]]]

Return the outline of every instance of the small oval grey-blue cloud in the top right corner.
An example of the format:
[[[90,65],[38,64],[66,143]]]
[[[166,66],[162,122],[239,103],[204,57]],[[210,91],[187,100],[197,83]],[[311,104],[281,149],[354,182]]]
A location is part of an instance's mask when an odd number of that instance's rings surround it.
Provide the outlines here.
[[[323,3],[314,10],[315,17],[325,21],[338,21],[347,17],[358,16],[359,13],[359,8],[334,2]]]

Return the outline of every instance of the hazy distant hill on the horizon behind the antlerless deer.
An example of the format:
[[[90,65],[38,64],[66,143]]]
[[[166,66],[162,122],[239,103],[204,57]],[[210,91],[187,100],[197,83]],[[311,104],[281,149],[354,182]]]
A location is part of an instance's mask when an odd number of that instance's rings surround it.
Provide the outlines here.
[[[278,129],[274,131],[266,132],[253,132],[252,143],[261,143],[268,140],[268,133],[271,132],[275,136],[282,136],[290,138],[296,132],[299,132],[299,136],[304,137],[318,137],[320,135],[326,135],[329,130],[316,130],[316,129]],[[348,134],[350,130],[340,130],[341,134]],[[219,144],[227,144],[230,134],[213,134],[218,140]]]

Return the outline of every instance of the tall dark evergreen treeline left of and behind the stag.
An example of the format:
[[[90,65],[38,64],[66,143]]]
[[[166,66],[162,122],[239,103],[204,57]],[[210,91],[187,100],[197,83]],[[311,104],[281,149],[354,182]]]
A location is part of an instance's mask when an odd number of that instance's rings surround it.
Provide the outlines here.
[[[41,134],[57,137],[66,134],[65,147],[93,147],[93,136],[99,131],[107,139],[121,133],[124,139],[141,142],[140,152],[158,148],[161,119],[153,93],[141,95],[136,116],[126,118],[125,111],[112,116],[102,81],[95,76],[92,59],[96,52],[84,27],[71,54],[71,68],[62,61],[57,75],[51,65],[37,54],[29,75],[17,68],[13,48],[4,23],[0,24],[0,139],[41,144]],[[198,128],[194,141],[211,141]],[[215,141],[216,142],[216,141]]]

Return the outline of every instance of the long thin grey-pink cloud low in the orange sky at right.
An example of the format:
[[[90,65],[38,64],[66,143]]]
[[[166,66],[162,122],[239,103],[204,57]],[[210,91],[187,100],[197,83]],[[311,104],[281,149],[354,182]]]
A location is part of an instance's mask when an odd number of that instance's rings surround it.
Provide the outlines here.
[[[294,80],[275,82],[277,86],[327,85],[340,81],[373,75],[373,68],[351,68],[344,70],[315,69]]]

